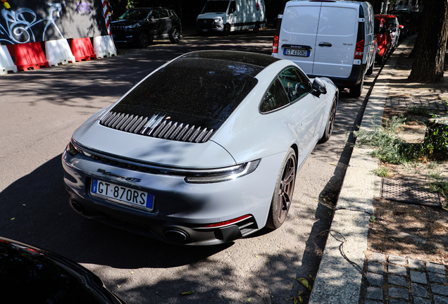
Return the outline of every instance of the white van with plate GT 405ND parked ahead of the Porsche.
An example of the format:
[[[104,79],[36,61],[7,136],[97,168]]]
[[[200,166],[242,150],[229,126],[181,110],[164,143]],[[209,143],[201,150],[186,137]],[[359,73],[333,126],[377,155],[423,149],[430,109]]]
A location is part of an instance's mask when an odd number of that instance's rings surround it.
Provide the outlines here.
[[[289,1],[278,16],[273,56],[289,59],[309,77],[328,77],[361,96],[373,71],[376,40],[368,2]]]

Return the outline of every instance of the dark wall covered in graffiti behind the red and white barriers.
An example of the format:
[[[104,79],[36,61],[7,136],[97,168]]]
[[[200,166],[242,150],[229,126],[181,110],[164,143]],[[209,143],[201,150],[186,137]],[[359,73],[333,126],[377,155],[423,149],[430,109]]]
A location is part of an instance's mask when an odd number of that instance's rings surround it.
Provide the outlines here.
[[[101,0],[15,0],[0,14],[0,44],[106,34]]]

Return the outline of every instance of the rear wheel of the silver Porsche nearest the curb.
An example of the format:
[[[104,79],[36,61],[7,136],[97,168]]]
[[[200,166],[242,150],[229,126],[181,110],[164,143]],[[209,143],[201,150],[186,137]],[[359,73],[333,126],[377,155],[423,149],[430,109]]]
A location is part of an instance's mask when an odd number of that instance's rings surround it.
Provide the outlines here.
[[[286,220],[294,194],[296,167],[296,153],[292,148],[289,148],[280,166],[273,198],[270,202],[268,220],[266,222],[266,227],[268,228],[277,229]]]

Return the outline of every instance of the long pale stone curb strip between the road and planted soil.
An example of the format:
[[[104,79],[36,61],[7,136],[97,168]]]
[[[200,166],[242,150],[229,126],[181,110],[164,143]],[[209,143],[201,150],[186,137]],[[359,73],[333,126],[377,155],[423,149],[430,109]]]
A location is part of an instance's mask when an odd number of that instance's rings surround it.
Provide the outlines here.
[[[405,39],[402,44],[409,42],[410,38]],[[397,57],[390,56],[378,75],[368,98],[360,129],[373,129],[375,119],[382,118],[390,78],[396,63]],[[380,196],[381,184],[381,178],[371,174],[371,170],[378,167],[378,160],[371,158],[369,151],[371,149],[355,147],[351,154],[330,227],[332,231],[328,234],[321,265],[311,291],[310,304],[359,303],[362,282],[359,267],[363,267],[366,259],[364,251],[367,250],[369,219],[374,213],[373,198]],[[344,242],[340,234],[343,234],[347,241]],[[379,291],[372,292],[375,296],[379,295]]]

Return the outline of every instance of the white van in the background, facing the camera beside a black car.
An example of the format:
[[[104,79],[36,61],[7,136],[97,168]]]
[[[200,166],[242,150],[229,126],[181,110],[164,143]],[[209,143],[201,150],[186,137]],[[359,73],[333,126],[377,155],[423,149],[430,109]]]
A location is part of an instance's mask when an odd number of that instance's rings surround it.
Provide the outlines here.
[[[223,32],[237,30],[258,32],[266,25],[264,0],[209,0],[196,18],[196,30]]]

